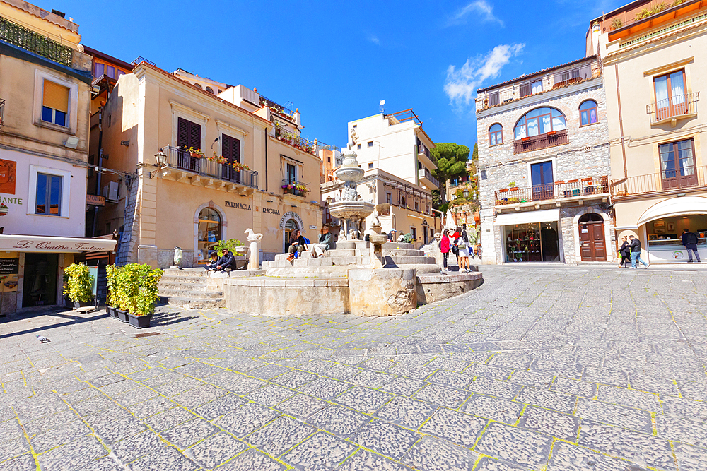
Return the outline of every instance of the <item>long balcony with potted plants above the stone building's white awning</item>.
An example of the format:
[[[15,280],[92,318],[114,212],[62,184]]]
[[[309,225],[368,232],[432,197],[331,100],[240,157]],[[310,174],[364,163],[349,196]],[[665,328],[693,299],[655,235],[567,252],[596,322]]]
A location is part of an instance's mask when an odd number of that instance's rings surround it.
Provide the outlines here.
[[[547,185],[514,186],[496,190],[496,206],[539,201],[603,198],[609,194],[609,177],[587,177],[555,181]]]

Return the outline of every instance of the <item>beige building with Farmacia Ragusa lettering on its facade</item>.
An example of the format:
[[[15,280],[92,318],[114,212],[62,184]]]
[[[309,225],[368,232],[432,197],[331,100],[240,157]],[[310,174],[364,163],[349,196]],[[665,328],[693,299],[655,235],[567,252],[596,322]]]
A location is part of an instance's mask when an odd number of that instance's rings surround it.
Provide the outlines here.
[[[179,246],[182,265],[196,266],[218,240],[245,242],[249,228],[263,234],[262,260],[282,253],[293,229],[316,237],[320,160],[300,137],[299,112],[243,85],[141,61],[117,79],[102,113],[104,158],[136,172],[102,184],[97,227],[121,232],[119,263],[170,266]]]

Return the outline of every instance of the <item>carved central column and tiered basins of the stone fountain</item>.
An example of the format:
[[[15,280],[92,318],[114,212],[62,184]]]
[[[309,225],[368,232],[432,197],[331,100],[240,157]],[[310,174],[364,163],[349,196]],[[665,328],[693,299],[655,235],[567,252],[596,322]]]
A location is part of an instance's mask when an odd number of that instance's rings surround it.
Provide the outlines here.
[[[354,141],[355,142],[355,141]],[[337,169],[337,179],[344,182],[344,194],[340,201],[334,201],[329,204],[329,211],[332,216],[344,220],[346,229],[344,237],[347,240],[360,240],[361,232],[363,232],[362,221],[373,213],[375,205],[368,201],[361,201],[356,191],[358,181],[363,178],[363,169],[358,167],[356,153],[353,149],[349,149],[344,153],[344,162]],[[342,237],[339,236],[339,240]]]

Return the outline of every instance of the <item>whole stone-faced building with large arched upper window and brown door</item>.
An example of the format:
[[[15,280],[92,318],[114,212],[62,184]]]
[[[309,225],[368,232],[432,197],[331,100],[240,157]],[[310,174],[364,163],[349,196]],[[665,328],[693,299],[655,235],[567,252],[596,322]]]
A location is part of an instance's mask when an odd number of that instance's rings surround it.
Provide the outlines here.
[[[476,105],[484,263],[611,261],[597,56],[479,89]]]

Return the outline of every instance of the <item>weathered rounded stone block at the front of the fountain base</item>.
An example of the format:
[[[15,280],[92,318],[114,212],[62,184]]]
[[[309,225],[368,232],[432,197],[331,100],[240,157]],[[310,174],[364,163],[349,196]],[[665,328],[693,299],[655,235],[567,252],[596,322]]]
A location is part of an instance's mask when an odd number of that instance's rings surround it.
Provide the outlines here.
[[[397,316],[415,309],[414,268],[349,270],[349,307],[356,316]]]

